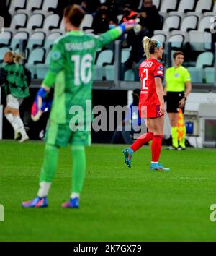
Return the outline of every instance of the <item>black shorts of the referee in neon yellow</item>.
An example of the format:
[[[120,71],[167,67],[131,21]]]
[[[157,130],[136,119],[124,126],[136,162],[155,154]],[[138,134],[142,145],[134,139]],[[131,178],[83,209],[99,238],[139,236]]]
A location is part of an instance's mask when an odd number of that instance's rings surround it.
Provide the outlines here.
[[[184,92],[167,92],[166,97],[166,112],[167,113],[178,113],[179,112],[179,101],[184,98]],[[184,113],[184,107],[181,108]]]

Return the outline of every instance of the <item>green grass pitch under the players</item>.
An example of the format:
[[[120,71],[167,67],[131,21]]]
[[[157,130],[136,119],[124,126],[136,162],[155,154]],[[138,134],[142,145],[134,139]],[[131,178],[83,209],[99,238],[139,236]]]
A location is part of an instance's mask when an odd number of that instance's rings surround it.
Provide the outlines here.
[[[170,172],[150,172],[150,148],[123,161],[123,145],[86,148],[81,207],[62,209],[71,187],[70,148],[60,150],[46,209],[23,209],[35,197],[44,144],[0,142],[0,241],[215,241],[216,150],[162,150]]]

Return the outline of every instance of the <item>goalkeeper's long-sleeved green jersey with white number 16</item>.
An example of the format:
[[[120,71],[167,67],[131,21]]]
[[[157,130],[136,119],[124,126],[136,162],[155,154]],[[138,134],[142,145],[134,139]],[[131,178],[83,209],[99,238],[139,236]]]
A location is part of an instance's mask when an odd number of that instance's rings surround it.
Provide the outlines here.
[[[96,51],[120,35],[119,28],[102,35],[87,35],[78,30],[68,32],[55,41],[49,72],[43,81],[48,87],[55,83],[50,121],[68,124],[73,116],[69,114],[72,106],[82,108],[84,119],[85,114],[89,116],[86,100],[91,100]]]

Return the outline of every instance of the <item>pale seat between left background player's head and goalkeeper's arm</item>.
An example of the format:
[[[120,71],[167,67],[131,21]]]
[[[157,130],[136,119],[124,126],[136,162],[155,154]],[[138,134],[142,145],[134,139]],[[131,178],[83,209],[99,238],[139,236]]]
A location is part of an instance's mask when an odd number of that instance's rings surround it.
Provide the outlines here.
[[[30,52],[26,67],[32,72],[32,77],[36,77],[37,67],[36,64],[43,63],[45,58],[45,49],[35,48]]]

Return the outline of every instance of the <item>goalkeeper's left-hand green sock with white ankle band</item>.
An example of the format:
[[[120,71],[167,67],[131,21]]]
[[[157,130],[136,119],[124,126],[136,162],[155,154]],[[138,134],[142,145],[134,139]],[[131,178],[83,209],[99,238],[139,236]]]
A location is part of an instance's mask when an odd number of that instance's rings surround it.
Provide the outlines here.
[[[45,155],[40,174],[40,189],[38,190],[38,197],[46,197],[50,190],[55,171],[58,166],[59,148],[54,145],[45,145]]]

